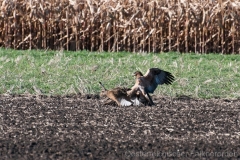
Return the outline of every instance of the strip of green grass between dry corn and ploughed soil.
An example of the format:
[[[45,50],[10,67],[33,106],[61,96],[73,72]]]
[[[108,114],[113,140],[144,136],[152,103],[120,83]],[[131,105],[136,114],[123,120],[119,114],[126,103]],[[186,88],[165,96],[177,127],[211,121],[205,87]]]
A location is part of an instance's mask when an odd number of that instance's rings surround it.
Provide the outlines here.
[[[66,95],[99,93],[106,88],[132,87],[136,70],[151,67],[171,72],[173,85],[154,94],[197,98],[240,97],[240,56],[179,53],[97,53],[0,48],[0,94]]]

